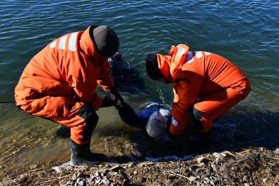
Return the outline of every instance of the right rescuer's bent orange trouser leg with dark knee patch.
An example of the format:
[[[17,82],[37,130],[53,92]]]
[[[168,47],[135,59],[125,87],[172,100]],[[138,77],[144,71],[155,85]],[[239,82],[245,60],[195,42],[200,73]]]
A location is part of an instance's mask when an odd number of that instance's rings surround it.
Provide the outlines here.
[[[197,131],[207,132],[210,130],[217,117],[245,97],[235,89],[227,88],[200,98],[193,108],[193,115],[200,121],[201,125],[197,127]]]

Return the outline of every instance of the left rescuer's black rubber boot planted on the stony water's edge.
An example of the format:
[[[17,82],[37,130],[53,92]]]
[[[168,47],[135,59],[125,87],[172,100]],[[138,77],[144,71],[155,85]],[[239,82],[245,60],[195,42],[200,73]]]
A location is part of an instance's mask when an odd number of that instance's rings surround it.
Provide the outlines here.
[[[104,154],[92,153],[90,151],[90,142],[78,144],[72,139],[70,140],[72,151],[71,163],[73,165],[95,165],[109,160]]]

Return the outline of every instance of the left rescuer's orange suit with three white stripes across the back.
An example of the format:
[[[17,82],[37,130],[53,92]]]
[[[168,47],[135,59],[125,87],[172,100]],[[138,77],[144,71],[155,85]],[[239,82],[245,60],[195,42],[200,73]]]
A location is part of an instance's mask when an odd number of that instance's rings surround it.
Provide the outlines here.
[[[97,85],[104,90],[114,87],[108,60],[98,53],[90,39],[94,27],[52,41],[30,60],[15,88],[18,107],[72,127],[71,138],[77,143],[89,140],[84,138],[87,116],[96,115],[94,110],[102,103],[95,92]],[[82,106],[91,113],[84,113]],[[89,126],[90,130],[94,127]]]

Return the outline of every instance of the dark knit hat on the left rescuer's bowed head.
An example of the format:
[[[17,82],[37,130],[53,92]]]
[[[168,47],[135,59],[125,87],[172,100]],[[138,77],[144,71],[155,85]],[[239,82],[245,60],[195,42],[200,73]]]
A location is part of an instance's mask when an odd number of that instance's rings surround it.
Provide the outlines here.
[[[102,56],[113,56],[119,49],[119,39],[114,30],[108,26],[98,26],[93,29],[93,39],[96,48]]]

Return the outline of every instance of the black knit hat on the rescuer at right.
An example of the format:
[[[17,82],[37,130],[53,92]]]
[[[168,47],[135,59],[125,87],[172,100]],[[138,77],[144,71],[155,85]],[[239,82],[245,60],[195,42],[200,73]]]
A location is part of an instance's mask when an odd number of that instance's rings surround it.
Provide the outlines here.
[[[152,80],[159,80],[163,78],[163,75],[159,71],[157,55],[148,54],[146,57],[146,72],[149,78]]]

